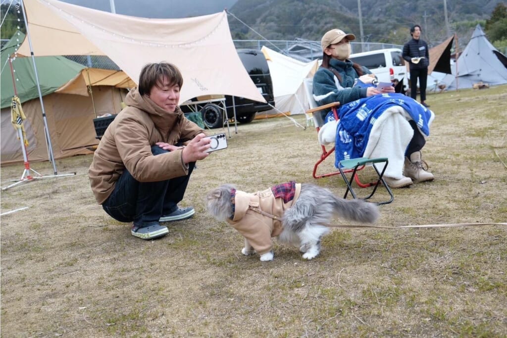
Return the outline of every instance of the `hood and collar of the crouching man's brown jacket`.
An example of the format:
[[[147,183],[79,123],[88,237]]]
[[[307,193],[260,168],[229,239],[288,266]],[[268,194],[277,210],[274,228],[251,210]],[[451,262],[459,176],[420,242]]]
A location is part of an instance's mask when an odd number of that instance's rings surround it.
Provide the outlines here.
[[[125,104],[150,114],[158,130],[168,133],[184,117],[183,111],[176,107],[174,112],[158,106],[148,96],[139,94],[137,88],[132,89],[125,97]]]

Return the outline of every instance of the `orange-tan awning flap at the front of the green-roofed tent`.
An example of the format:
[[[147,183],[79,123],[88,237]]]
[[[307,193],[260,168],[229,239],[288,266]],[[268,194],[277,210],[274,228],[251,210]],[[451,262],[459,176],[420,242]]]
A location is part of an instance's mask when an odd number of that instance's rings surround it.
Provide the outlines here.
[[[136,84],[121,70],[84,68],[72,80],[56,90],[61,94],[88,96],[87,86],[112,86],[116,88],[134,88]]]

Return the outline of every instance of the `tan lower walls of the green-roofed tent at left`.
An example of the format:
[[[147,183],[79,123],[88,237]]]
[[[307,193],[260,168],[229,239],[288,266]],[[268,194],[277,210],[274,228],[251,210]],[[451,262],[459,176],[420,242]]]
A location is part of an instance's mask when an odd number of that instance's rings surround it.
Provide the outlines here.
[[[86,87],[85,87],[86,88]],[[55,159],[79,154],[89,154],[89,146],[98,144],[95,138],[94,107],[97,115],[116,114],[121,110],[124,89],[111,86],[93,86],[93,102],[89,97],[52,93],[44,96],[46,120],[51,136]],[[23,103],[26,120],[23,125],[28,139],[27,155],[30,162],[47,161],[48,148],[44,135],[41,102],[39,98]],[[1,162],[2,165],[22,162],[21,143],[12,127],[11,108],[0,111]]]

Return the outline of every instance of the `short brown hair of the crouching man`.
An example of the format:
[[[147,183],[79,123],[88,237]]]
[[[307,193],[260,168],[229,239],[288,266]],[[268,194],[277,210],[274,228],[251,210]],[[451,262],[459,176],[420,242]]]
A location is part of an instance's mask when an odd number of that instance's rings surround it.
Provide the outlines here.
[[[183,76],[178,67],[168,62],[148,63],[145,64],[141,73],[139,74],[139,94],[150,94],[153,86],[162,84],[162,79],[166,77],[169,80],[169,85],[178,85],[179,88],[183,86]]]

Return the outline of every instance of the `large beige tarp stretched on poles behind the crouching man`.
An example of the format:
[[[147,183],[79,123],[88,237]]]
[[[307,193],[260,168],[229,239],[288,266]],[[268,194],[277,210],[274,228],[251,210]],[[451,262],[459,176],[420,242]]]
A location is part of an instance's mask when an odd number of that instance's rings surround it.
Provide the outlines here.
[[[107,55],[134,81],[148,62],[168,61],[183,73],[180,102],[234,95],[265,102],[234,47],[227,13],[146,19],[56,0],[25,0],[35,56]],[[30,55],[28,39],[18,53]]]

